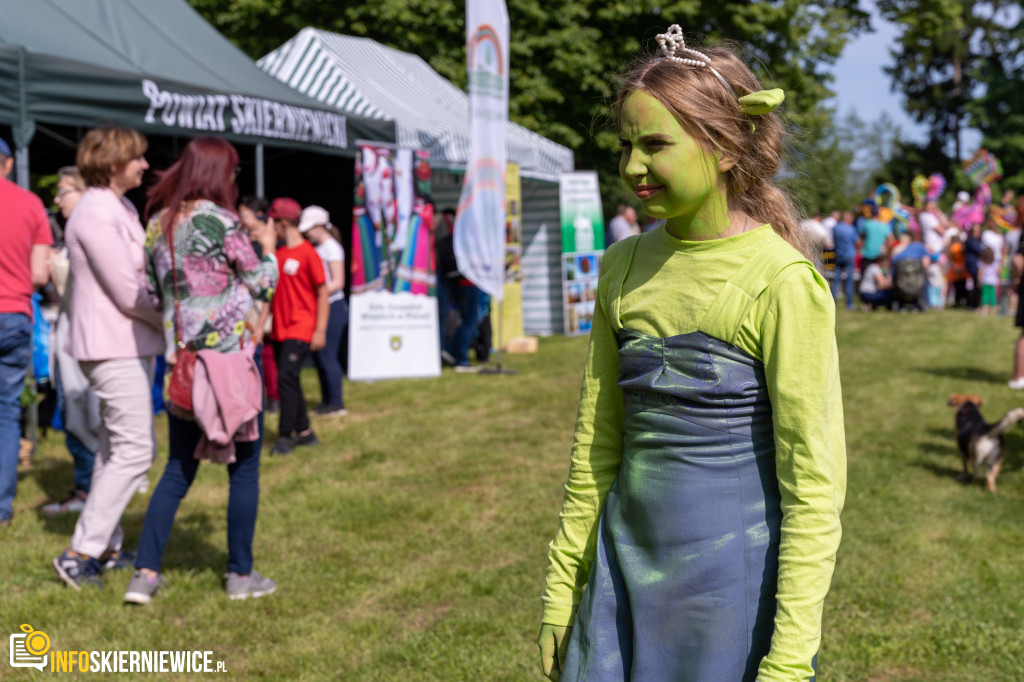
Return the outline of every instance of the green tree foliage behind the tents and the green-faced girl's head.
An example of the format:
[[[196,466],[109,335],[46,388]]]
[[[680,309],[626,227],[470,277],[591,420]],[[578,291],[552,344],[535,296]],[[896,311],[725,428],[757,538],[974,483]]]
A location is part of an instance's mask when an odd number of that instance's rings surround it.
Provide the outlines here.
[[[463,2],[189,2],[254,58],[312,26],[418,54],[465,88]],[[573,150],[578,168],[598,170],[606,201],[617,185],[609,179],[617,135],[606,125],[616,77],[639,52],[654,49],[654,36],[670,24],[707,41],[745,46],[759,76],[785,88],[793,125],[810,131],[830,121],[820,105],[831,94],[829,67],[867,26],[857,0],[509,0],[508,11],[511,119]]]

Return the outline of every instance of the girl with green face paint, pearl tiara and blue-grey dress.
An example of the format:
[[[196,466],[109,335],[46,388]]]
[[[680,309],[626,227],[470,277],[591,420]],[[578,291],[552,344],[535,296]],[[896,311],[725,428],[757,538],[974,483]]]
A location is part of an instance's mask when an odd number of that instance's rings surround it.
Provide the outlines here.
[[[679,27],[614,105],[664,225],[604,255],[542,669],[809,680],[846,489],[835,303],[771,178],[781,91]]]

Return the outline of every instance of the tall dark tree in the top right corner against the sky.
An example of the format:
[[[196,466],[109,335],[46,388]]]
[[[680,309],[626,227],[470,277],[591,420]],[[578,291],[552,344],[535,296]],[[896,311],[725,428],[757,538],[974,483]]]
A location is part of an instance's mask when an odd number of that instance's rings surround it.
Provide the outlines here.
[[[900,26],[886,69],[906,111],[930,128],[933,142],[953,142],[961,159],[961,132],[968,104],[983,90],[986,74],[1021,54],[1017,0],[879,0],[879,10]]]

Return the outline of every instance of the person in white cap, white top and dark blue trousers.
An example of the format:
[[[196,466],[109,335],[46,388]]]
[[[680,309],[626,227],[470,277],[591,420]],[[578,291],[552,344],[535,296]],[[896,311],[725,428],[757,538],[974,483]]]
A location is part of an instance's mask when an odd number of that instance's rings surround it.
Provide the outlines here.
[[[345,301],[345,250],[331,233],[331,215],[319,206],[307,206],[299,218],[299,231],[316,248],[327,274],[330,311],[327,321],[326,345],[313,353],[313,364],[319,376],[319,406],[313,413],[321,416],[348,414],[342,399],[341,337],[348,324],[348,303]]]

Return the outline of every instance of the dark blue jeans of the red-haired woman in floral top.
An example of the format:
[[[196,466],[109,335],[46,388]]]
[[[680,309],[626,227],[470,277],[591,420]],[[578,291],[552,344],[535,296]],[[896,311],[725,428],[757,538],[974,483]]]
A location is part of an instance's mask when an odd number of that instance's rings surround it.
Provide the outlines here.
[[[199,460],[193,457],[193,453],[202,436],[196,422],[168,414],[167,424],[170,432],[167,468],[150,500],[142,535],[138,540],[138,558],[135,561],[136,567],[158,572],[163,566],[164,549],[171,537],[178,504],[196,479]],[[261,427],[259,439],[234,443],[236,461],[227,465],[230,485],[227,495],[227,569],[234,573],[248,574],[252,571],[262,435]]]

